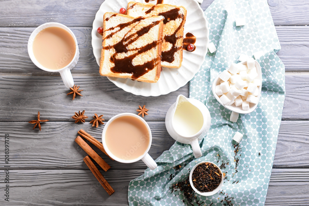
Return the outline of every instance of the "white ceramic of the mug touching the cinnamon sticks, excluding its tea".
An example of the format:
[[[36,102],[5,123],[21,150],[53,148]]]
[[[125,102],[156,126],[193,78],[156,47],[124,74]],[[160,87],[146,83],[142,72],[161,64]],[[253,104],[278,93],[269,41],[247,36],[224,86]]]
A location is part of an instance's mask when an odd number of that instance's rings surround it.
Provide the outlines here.
[[[146,125],[147,129],[148,129],[148,132],[149,132],[149,144],[148,144],[148,147],[147,149],[145,150],[145,152],[139,156],[138,158],[135,158],[135,159],[130,159],[130,160],[125,160],[125,159],[121,159],[121,158],[118,158],[116,157],[109,149],[108,149],[108,146],[106,145],[106,141],[105,141],[105,134],[106,134],[106,130],[108,128],[108,125],[111,124],[112,121],[116,120],[118,117],[121,117],[121,116],[134,116],[140,120],[142,120],[142,122]],[[147,124],[147,122],[140,116],[136,115],[136,114],[132,114],[132,113],[121,113],[121,114],[118,114],[116,116],[113,116],[110,120],[108,120],[108,122],[105,124],[104,126],[104,129],[103,129],[103,132],[102,132],[102,144],[103,144],[103,147],[106,151],[106,153],[108,153],[108,155],[113,158],[114,160],[116,160],[117,162],[122,162],[122,163],[132,163],[132,162],[137,162],[139,160],[142,160],[151,170],[154,170],[156,167],[157,167],[157,163],[155,162],[154,159],[152,159],[150,157],[150,155],[148,154],[148,151],[150,149],[150,146],[151,146],[151,141],[152,141],[152,136],[151,136],[151,131],[150,131],[150,127],[149,125]]]

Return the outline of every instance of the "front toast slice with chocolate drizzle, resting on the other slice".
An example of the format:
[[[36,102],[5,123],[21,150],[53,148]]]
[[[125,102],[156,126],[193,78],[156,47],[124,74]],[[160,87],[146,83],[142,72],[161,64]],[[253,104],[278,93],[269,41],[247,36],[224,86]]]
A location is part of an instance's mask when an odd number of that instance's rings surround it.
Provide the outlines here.
[[[161,72],[163,17],[107,12],[103,19],[100,75],[155,83]]]

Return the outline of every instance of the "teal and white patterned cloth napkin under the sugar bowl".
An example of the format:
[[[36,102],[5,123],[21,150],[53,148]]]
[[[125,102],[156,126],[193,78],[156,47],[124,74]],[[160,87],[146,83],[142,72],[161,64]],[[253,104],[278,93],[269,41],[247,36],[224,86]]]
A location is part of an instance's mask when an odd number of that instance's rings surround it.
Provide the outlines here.
[[[222,166],[226,178],[220,192],[196,195],[192,205],[265,203],[285,97],[285,69],[276,55],[281,47],[269,7],[266,0],[215,0],[205,16],[210,42],[217,51],[207,53],[190,81],[190,97],[205,103],[211,115],[210,130],[200,141],[203,156],[195,159],[190,145],[175,142],[156,159],[158,168],[145,170],[129,183],[129,205],[190,205],[183,191],[172,192],[170,187],[187,179],[190,169],[201,161]],[[245,18],[246,24],[236,27],[237,18]],[[257,59],[262,68],[261,98],[255,111],[240,114],[233,123],[231,111],[214,98],[211,84],[231,63],[238,63],[240,54],[253,56],[256,52],[264,54]],[[236,131],[244,134],[238,152],[232,144]]]

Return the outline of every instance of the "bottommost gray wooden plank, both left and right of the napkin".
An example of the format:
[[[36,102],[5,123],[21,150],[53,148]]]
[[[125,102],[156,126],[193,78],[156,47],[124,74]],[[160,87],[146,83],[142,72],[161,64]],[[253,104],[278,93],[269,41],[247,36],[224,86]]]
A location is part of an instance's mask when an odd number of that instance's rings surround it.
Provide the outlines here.
[[[103,170],[101,170],[102,172]],[[3,172],[1,171],[0,174]],[[130,180],[144,170],[111,169],[105,179],[115,189],[109,197],[90,170],[10,170],[10,202],[0,199],[0,204],[15,205],[128,205]],[[273,169],[265,205],[308,205],[308,169]],[[4,188],[4,183],[0,183]],[[237,204],[236,204],[237,205]]]

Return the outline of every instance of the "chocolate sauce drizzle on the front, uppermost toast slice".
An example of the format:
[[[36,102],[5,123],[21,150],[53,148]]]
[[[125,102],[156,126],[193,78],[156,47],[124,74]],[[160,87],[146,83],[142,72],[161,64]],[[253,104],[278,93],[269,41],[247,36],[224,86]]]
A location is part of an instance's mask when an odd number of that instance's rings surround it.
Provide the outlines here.
[[[131,25],[132,23],[138,23],[142,19],[145,19],[145,18],[144,17],[138,17],[138,18],[133,19],[132,21],[130,21],[128,23],[121,23],[121,24],[118,24],[115,27],[111,27],[111,28],[107,29],[106,31],[109,31],[109,30],[114,30],[115,28],[119,27],[119,29],[117,31],[112,32],[111,34],[106,36],[104,38],[104,40],[115,35],[117,32],[121,31],[123,28]],[[139,29],[137,32],[130,34],[127,37],[124,37],[120,42],[118,42],[114,45],[108,45],[106,47],[103,47],[103,49],[114,48],[115,51],[116,51],[110,58],[111,62],[114,63],[114,65],[115,65],[111,68],[112,72],[132,74],[131,78],[137,79],[137,78],[141,77],[142,75],[146,74],[147,72],[149,72],[150,70],[154,69],[155,66],[157,66],[159,64],[160,57],[156,57],[156,58],[154,58],[150,61],[145,62],[142,65],[134,65],[132,61],[137,55],[144,53],[144,52],[147,52],[150,49],[157,47],[160,44],[160,42],[162,42],[162,39],[153,41],[149,44],[146,44],[145,46],[142,46],[141,48],[128,49],[127,46],[129,44],[132,44],[134,41],[138,40],[138,38],[140,36],[143,36],[144,34],[149,32],[149,30],[152,27],[158,25],[160,22],[161,21],[155,21],[152,24],[147,25],[146,27]],[[129,51],[137,51],[137,52],[129,55],[128,57],[124,57],[122,59],[116,58],[116,55],[118,53],[127,53]]]

